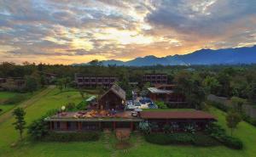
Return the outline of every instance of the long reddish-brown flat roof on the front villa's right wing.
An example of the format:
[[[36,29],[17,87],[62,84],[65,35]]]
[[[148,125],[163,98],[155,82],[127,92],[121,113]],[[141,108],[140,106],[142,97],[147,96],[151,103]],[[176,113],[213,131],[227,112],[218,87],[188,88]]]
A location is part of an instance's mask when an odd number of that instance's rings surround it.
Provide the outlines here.
[[[142,111],[140,113],[143,119],[202,119],[215,121],[215,117],[199,110],[195,111]]]

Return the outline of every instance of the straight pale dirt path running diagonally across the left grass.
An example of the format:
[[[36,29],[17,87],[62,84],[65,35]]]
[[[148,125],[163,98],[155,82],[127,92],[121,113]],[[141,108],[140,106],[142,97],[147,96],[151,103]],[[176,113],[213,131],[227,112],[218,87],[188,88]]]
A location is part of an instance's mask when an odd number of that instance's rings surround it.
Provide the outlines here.
[[[26,100],[25,102],[18,104],[14,109],[18,107],[22,107],[23,109],[26,109],[27,107],[31,106],[32,104],[36,103],[40,98],[44,97],[46,94],[48,94],[50,91],[52,91],[55,88],[55,86],[49,86],[46,89],[44,89],[42,92],[38,93],[37,95],[34,95],[32,98]],[[4,113],[3,115],[0,115],[0,124],[3,121],[8,120],[12,116],[12,112],[14,109],[10,109],[8,112]]]

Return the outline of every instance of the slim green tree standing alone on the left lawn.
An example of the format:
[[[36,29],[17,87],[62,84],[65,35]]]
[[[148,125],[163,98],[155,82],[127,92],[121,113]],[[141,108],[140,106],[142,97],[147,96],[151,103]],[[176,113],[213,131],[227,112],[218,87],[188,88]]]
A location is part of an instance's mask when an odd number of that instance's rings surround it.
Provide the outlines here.
[[[26,121],[24,120],[24,116],[26,115],[26,112],[22,108],[17,108],[13,111],[13,115],[15,115],[15,122],[13,125],[15,126],[15,130],[18,130],[20,132],[20,140],[22,140],[22,133],[24,129],[26,128]]]

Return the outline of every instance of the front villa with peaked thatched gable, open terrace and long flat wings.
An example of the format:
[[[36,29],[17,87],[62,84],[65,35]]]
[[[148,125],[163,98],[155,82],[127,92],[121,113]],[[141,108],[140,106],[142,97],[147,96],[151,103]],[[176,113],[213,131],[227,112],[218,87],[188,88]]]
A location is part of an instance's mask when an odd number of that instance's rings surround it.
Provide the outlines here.
[[[103,93],[96,105],[78,112],[61,112],[45,119],[49,130],[54,132],[86,132],[93,130],[130,128],[136,130],[141,121],[156,122],[162,127],[166,123],[183,125],[195,123],[203,128],[216,119],[198,110],[125,110],[125,91],[113,85]]]

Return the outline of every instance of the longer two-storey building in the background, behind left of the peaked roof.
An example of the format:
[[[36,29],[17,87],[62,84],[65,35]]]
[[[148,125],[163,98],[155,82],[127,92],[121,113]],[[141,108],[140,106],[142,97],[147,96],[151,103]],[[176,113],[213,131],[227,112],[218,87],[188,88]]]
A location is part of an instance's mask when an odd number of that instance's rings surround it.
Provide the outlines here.
[[[111,87],[115,81],[114,76],[79,76],[75,74],[75,82],[78,87]]]

